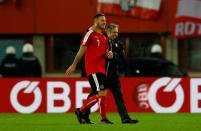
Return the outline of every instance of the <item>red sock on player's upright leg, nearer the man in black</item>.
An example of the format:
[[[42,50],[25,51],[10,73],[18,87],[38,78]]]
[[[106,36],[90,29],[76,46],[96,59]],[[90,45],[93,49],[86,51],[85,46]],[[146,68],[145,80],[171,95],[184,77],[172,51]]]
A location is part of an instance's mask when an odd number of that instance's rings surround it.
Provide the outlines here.
[[[101,120],[102,120],[102,119],[106,119],[105,96],[99,96],[99,97],[98,97],[98,104],[99,104],[99,108],[100,108]]]

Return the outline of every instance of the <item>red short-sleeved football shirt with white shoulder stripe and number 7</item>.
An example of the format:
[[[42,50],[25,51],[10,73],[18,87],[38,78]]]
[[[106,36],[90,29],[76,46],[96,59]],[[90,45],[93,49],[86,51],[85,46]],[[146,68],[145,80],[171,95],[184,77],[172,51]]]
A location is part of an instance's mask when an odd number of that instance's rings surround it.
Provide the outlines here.
[[[93,73],[105,74],[105,54],[109,50],[108,40],[102,33],[89,30],[82,39],[82,46],[87,46],[85,52],[85,69],[87,76]]]

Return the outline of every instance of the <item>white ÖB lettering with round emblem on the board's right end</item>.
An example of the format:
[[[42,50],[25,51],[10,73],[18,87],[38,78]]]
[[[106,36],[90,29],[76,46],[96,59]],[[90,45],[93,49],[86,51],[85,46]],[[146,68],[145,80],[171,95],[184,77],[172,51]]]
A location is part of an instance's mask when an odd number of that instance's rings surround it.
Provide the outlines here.
[[[199,101],[201,100],[201,93],[199,92],[199,87],[201,86],[201,79],[190,78],[188,80],[190,80],[190,84],[183,85],[183,87],[182,78],[163,77],[155,80],[150,86],[147,83],[141,83],[136,88],[135,102],[141,109],[148,110],[151,107],[157,113],[176,113],[183,108],[185,102],[186,105],[190,102],[187,107],[190,112],[200,113]],[[185,90],[184,87],[186,88]],[[164,95],[165,93],[170,93],[169,97],[175,98],[168,106],[164,106],[169,101],[168,97]],[[158,98],[157,96],[161,96],[161,94],[163,98]]]

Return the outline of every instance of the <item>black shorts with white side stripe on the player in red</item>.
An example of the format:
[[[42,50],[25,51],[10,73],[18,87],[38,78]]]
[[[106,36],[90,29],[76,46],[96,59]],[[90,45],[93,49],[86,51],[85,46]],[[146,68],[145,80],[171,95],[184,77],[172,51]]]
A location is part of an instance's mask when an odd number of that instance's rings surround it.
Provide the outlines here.
[[[98,94],[98,91],[105,90],[106,76],[103,73],[94,73],[88,76],[92,92]]]

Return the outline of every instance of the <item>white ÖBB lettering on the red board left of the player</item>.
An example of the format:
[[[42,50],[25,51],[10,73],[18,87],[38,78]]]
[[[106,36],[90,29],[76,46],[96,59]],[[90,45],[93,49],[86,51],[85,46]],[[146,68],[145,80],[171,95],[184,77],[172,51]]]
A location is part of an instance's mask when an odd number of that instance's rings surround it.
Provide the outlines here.
[[[47,93],[45,92],[41,92],[40,88],[39,88],[39,81],[21,81],[18,82],[11,90],[10,93],[10,101],[11,101],[11,105],[13,106],[13,108],[20,112],[20,113],[32,113],[37,111],[37,109],[39,109],[39,107],[41,106],[42,101],[46,101],[47,100],[47,112],[48,113],[63,113],[63,112],[67,112],[72,104],[71,104],[71,99],[69,97],[70,95],[70,86],[68,83],[66,82],[62,82],[62,81],[48,81],[46,83],[46,87],[45,90],[47,91]],[[44,85],[43,85],[44,86]],[[89,82],[88,81],[76,81],[75,82],[75,106],[76,107],[80,107],[83,104],[83,100],[85,100],[88,96],[88,93],[84,93],[84,88],[90,88]],[[62,89],[63,91],[60,93],[55,93],[54,90],[55,89]],[[22,92],[24,94],[28,94],[29,98],[30,97],[34,97],[33,102],[29,105],[23,105],[21,102],[23,102],[22,99],[18,99],[19,96],[21,96],[22,94],[20,92]],[[32,94],[34,95],[32,95]],[[44,93],[44,94],[43,94]],[[45,94],[47,94],[47,96],[45,97]],[[44,99],[44,100],[42,100]],[[55,101],[63,101],[63,105],[62,106],[56,106],[55,105]],[[29,100],[29,102],[32,101]],[[98,105],[96,104],[93,108],[92,108],[92,112],[98,110]],[[46,111],[45,111],[46,112]]]

